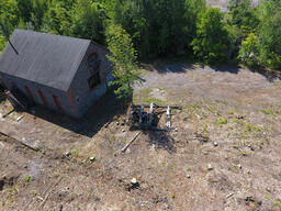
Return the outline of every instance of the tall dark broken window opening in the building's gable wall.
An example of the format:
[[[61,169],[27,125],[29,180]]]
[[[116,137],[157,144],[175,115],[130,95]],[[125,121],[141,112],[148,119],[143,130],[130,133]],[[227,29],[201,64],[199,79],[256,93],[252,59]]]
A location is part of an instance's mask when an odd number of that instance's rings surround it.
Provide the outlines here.
[[[88,85],[90,89],[93,89],[97,85],[101,82],[100,78],[100,63],[98,53],[93,52],[88,56],[88,68],[90,71],[90,78],[88,79]]]

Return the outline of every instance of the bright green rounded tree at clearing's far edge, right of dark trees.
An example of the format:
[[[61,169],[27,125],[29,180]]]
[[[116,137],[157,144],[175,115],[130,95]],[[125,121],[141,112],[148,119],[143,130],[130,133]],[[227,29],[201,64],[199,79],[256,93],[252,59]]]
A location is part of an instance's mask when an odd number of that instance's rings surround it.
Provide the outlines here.
[[[196,36],[191,45],[195,56],[206,64],[217,64],[228,58],[228,34],[223,25],[220,9],[209,8],[196,25]]]

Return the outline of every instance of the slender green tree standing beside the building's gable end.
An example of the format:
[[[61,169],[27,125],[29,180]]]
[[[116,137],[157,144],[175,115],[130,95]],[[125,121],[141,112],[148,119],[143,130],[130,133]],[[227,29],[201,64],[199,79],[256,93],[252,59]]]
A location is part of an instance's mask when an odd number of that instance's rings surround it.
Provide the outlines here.
[[[115,95],[119,98],[127,98],[133,93],[133,86],[140,82],[136,64],[136,52],[132,40],[121,25],[112,24],[108,29],[108,47],[111,55],[108,58],[113,63]]]

